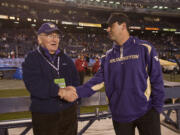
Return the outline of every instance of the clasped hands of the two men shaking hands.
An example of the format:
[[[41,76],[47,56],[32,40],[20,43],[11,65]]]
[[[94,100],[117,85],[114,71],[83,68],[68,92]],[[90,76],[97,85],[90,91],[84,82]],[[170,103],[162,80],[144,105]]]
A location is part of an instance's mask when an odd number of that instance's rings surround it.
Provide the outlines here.
[[[78,98],[76,88],[73,86],[59,88],[58,95],[61,97],[61,99],[64,99],[68,102],[74,102]]]

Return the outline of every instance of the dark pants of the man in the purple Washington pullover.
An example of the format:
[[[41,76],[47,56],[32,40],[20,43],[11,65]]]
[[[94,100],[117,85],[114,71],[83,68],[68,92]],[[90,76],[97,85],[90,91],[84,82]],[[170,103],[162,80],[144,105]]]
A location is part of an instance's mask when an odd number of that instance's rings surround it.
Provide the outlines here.
[[[139,135],[161,135],[160,114],[155,109],[129,123],[113,121],[113,126],[116,135],[135,135],[135,127],[138,128]]]

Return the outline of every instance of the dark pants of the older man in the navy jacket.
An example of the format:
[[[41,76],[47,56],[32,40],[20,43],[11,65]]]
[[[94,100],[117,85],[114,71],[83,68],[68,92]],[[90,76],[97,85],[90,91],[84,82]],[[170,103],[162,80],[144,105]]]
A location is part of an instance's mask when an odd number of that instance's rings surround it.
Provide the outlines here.
[[[77,135],[76,105],[58,113],[32,112],[34,135]]]

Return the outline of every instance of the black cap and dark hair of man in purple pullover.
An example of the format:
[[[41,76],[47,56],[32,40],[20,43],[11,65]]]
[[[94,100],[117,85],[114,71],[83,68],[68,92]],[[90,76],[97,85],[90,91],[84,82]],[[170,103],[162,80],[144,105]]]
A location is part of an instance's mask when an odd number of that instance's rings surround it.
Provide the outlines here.
[[[113,23],[118,22],[118,24],[126,23],[127,29],[129,30],[129,17],[124,13],[112,13],[107,20],[108,26],[111,26]]]

